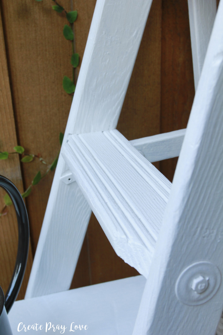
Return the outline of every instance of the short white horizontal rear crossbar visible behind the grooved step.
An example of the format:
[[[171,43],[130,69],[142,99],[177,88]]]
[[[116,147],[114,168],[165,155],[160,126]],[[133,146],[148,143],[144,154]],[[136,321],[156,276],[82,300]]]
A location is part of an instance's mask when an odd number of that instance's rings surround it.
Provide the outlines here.
[[[178,157],[186,129],[129,141],[150,162]]]

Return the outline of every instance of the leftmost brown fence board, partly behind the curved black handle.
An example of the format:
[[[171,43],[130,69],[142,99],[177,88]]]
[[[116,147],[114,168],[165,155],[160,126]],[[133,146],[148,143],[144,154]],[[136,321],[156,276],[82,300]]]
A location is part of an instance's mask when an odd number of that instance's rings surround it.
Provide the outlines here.
[[[17,143],[15,120],[12,108],[11,91],[9,85],[9,76],[7,69],[7,60],[5,53],[5,42],[3,36],[3,27],[0,12],[0,114],[1,114],[1,129],[0,129],[0,150],[13,151],[13,147]],[[17,155],[11,155],[7,160],[1,160],[1,175],[9,178],[17,185],[20,192],[23,191],[22,177],[20,170],[20,162]],[[5,192],[1,189],[0,206],[4,207],[3,196]],[[0,218],[0,284],[6,293],[8,285],[11,281],[13,269],[17,254],[18,243],[18,228],[17,218],[13,207],[7,208],[7,215]],[[23,284],[20,289],[18,298],[23,298],[27,285],[30,269],[32,265],[31,249],[29,250],[28,263],[23,279]]]

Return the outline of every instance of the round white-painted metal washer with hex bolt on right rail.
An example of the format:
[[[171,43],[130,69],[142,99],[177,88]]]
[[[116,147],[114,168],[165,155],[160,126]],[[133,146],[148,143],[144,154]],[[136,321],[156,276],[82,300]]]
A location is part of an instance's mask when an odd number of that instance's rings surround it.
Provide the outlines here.
[[[221,273],[216,265],[197,262],[181,272],[176,281],[175,293],[185,305],[202,305],[215,295],[220,283]]]

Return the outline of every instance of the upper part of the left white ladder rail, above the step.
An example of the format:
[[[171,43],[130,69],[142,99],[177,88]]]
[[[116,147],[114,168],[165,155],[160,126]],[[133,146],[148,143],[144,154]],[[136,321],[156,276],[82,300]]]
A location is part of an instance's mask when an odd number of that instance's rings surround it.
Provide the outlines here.
[[[151,2],[96,3],[66,134],[116,128]]]

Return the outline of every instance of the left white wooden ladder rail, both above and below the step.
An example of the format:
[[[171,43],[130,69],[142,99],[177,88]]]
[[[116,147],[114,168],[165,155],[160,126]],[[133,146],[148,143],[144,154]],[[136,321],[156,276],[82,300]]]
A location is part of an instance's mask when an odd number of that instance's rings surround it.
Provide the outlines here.
[[[63,142],[116,128],[151,3],[97,0]],[[66,290],[73,277],[90,209],[76,183],[60,181],[66,170],[60,155],[26,298]]]

